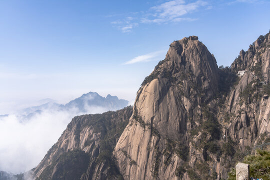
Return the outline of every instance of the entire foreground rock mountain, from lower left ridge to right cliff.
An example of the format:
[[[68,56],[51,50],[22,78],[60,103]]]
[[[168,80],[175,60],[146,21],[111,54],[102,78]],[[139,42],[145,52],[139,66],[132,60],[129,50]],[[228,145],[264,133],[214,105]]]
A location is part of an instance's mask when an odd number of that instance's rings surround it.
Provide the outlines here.
[[[270,142],[270,36],[230,67],[197,36],[173,41],[133,107],[74,117],[35,179],[226,179]]]

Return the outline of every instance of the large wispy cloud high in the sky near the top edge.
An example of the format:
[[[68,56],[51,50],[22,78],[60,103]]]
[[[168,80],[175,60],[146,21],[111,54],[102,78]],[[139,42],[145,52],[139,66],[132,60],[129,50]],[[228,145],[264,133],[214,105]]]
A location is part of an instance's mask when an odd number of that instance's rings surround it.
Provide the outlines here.
[[[197,18],[183,17],[183,15],[192,13],[202,7],[204,9],[212,8],[208,2],[203,0],[189,3],[185,0],[169,0],[159,5],[152,6],[147,11],[133,13],[134,16],[127,16],[120,20],[114,20],[111,24],[116,26],[122,32],[130,32],[140,23],[161,24],[168,22],[193,21],[197,20]]]

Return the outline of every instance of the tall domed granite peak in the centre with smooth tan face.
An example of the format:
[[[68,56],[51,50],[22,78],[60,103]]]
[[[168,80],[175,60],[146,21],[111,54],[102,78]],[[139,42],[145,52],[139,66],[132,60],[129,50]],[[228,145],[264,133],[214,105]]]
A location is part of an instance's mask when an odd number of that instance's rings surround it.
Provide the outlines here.
[[[191,169],[204,162],[203,150],[192,143],[193,139],[199,142],[202,135],[192,137],[190,133],[201,125],[203,108],[212,104],[217,88],[216,60],[198,38],[172,42],[165,59],[142,82],[133,115],[115,146],[123,177],[187,178],[180,171],[183,166]],[[219,139],[219,134],[207,133],[206,138]],[[129,163],[131,160],[136,164]]]

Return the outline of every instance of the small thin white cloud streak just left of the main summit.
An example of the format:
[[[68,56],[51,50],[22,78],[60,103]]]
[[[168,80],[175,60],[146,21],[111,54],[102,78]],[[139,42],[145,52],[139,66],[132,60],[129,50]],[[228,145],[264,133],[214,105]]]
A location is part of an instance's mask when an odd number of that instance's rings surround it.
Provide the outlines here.
[[[144,55],[138,55],[132,58],[131,60],[128,60],[124,64],[132,64],[136,62],[147,62],[147,61],[157,60],[157,59],[160,60],[160,58],[164,56],[164,53],[165,53],[165,50],[159,50],[159,51],[150,52]]]

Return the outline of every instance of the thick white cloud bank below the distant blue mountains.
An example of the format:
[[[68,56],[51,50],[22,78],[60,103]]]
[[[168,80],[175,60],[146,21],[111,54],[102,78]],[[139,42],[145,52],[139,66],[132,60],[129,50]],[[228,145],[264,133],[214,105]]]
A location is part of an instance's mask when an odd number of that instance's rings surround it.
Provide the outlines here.
[[[108,108],[85,104],[87,113],[101,113]],[[85,113],[85,112],[83,112]],[[35,167],[57,141],[78,109],[45,109],[25,118],[10,114],[0,116],[0,170],[12,173]]]

